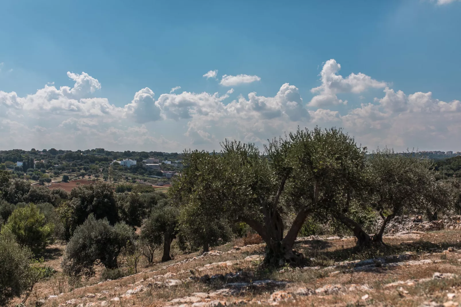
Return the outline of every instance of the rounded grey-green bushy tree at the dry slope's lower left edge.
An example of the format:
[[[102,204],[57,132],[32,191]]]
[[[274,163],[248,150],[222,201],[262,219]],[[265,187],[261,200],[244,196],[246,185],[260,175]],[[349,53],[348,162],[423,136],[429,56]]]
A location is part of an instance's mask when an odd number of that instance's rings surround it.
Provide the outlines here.
[[[130,226],[124,223],[111,226],[107,219],[97,220],[90,215],[71,237],[61,266],[71,276],[92,276],[94,265],[99,262],[106,269],[116,269],[121,249],[134,240],[135,233]]]

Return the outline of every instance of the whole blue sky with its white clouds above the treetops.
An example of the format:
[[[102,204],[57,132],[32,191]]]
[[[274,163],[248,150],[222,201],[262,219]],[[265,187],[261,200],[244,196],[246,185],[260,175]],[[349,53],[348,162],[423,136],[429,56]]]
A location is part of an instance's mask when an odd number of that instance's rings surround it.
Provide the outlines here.
[[[461,151],[461,1],[0,0],[0,150],[219,150],[341,127]]]

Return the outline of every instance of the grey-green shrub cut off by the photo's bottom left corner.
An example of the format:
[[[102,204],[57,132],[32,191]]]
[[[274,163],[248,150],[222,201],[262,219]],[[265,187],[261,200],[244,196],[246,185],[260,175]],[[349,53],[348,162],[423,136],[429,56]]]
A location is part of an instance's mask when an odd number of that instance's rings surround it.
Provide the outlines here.
[[[0,306],[29,288],[30,251],[15,241],[11,233],[0,235]]]

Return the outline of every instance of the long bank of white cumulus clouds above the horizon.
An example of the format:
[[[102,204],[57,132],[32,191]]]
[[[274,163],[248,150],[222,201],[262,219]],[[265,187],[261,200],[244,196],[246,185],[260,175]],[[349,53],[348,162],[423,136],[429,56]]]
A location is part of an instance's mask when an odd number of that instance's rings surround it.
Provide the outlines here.
[[[319,125],[343,127],[369,148],[461,150],[452,148],[461,141],[459,100],[442,101],[431,92],[407,94],[361,72],[343,77],[338,74],[340,69],[336,60],[326,61],[320,85],[311,89],[313,97],[307,100],[301,98],[295,85],[284,83],[274,89],[273,96],[250,92],[231,101],[234,89],[222,94],[175,93],[180,89],[175,87],[156,95],[144,88],[124,106],[98,97],[101,84],[96,78],[85,72],[67,72],[73,87],[58,89],[49,83],[24,97],[0,90],[0,146],[212,150],[219,149],[224,138],[261,145],[298,126]],[[216,76],[217,71],[208,71],[203,77]],[[255,81],[260,77],[224,75],[220,83],[234,86]],[[364,100],[361,94],[368,90],[377,91],[379,97]],[[343,108],[335,109],[339,105]]]

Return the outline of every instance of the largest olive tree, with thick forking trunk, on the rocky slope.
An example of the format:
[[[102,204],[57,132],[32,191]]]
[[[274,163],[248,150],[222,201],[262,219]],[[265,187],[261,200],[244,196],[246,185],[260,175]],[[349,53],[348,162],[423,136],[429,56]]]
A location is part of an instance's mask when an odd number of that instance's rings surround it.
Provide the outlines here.
[[[204,191],[195,201],[204,217],[248,224],[266,242],[267,264],[301,265],[293,244],[307,216],[337,209],[348,191],[361,188],[366,149],[335,128],[298,130],[264,153],[254,144],[222,146],[219,154],[186,152],[188,168],[172,191],[185,192],[186,203]],[[295,219],[285,231],[289,213]]]

